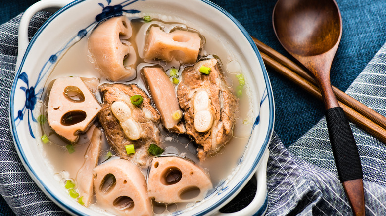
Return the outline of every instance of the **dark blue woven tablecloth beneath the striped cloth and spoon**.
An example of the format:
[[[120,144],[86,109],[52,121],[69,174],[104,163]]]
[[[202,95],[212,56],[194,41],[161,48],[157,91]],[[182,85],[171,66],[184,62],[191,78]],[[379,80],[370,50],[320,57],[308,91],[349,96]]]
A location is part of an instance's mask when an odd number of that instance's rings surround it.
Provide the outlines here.
[[[8,21],[35,1],[1,0],[1,21]],[[235,16],[252,36],[290,57],[281,47],[272,28],[272,11],[276,0],[213,2]],[[337,3],[343,18],[343,35],[332,65],[331,79],[333,85],[345,91],[386,41],[386,1],[337,0]],[[0,49],[6,49],[6,46],[0,44]],[[288,147],[319,122],[324,115],[324,105],[276,72],[267,69],[275,98],[275,139],[280,138]],[[1,104],[1,107],[7,105]],[[248,196],[248,191],[241,194],[243,198]],[[2,197],[0,213],[4,216],[14,215]]]

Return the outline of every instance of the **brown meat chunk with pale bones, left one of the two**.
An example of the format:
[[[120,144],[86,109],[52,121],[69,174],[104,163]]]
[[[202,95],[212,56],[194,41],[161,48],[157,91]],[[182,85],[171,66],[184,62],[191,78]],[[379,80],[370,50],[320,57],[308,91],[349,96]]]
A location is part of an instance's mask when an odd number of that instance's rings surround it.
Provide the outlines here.
[[[147,94],[135,84],[103,84],[99,90],[104,97],[98,118],[108,142],[121,158],[145,166],[151,157],[147,152],[149,145],[159,145],[158,111],[151,105]],[[143,101],[134,105],[130,98],[137,95],[141,95]],[[135,153],[128,154],[126,146],[131,144]]]

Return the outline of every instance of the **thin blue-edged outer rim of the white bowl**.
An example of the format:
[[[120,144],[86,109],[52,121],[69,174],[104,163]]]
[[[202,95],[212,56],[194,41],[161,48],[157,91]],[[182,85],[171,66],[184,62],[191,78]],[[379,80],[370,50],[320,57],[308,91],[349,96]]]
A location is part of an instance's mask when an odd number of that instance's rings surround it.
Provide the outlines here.
[[[33,170],[33,167],[31,166],[30,162],[26,159],[26,155],[23,151],[23,148],[21,146],[20,140],[19,140],[18,135],[17,135],[17,131],[16,131],[17,126],[15,124],[15,121],[13,120],[14,119],[14,107],[13,107],[14,97],[13,96],[15,94],[16,84],[17,84],[17,78],[16,77],[18,77],[20,75],[22,66],[24,65],[24,62],[25,62],[25,59],[26,59],[27,55],[29,54],[29,51],[30,51],[32,45],[34,44],[34,42],[36,41],[37,37],[44,31],[44,29],[49,25],[49,23],[53,19],[55,19],[55,17],[59,16],[63,11],[65,11],[65,10],[67,10],[67,9],[69,9],[69,8],[75,6],[83,1],[88,1],[88,0],[74,0],[73,2],[71,2],[71,3],[67,4],[66,6],[57,10],[54,14],[52,14],[52,16],[50,16],[48,18],[48,20],[46,22],[44,22],[44,24],[37,30],[35,35],[31,38],[31,40],[26,48],[26,51],[22,57],[22,61],[20,62],[20,66],[17,69],[17,72],[15,73],[15,80],[13,81],[13,84],[12,84],[11,93],[10,93],[10,101],[9,101],[9,116],[10,116],[9,121],[10,121],[10,126],[11,126],[12,138],[13,138],[16,150],[18,152],[19,158],[21,159],[24,167],[26,168],[26,170],[28,171],[30,176],[35,180],[35,183],[37,183],[39,185],[39,188],[44,190],[46,192],[46,194],[49,195],[49,198],[55,202],[55,204],[61,206],[63,209],[65,209],[65,211],[72,213],[72,214],[76,214],[76,215],[83,215],[83,213],[81,211],[79,211],[78,209],[72,208],[70,205],[67,205],[66,203],[62,202],[57,197],[53,196],[54,193],[47,187],[47,185],[41,180],[41,178],[39,178],[39,176]],[[262,158],[264,152],[267,150],[269,141],[271,140],[271,136],[273,133],[274,120],[275,120],[275,106],[274,106],[272,87],[271,87],[271,83],[270,83],[270,80],[268,77],[268,72],[265,68],[265,65],[263,63],[263,59],[260,55],[260,52],[258,51],[258,48],[256,47],[255,43],[253,42],[251,36],[249,36],[248,32],[239,23],[239,21],[236,20],[236,18],[234,18],[230,13],[228,13],[226,10],[224,10],[220,6],[216,5],[215,3],[213,3],[209,0],[197,0],[197,1],[202,1],[202,2],[206,3],[207,5],[209,5],[210,7],[217,9],[218,11],[220,11],[221,13],[226,15],[239,28],[241,33],[248,40],[249,45],[251,46],[251,48],[253,49],[253,51],[256,54],[256,57],[259,60],[259,64],[260,64],[260,67],[261,67],[261,70],[263,73],[263,77],[264,77],[264,82],[266,85],[266,93],[267,94],[263,95],[263,98],[261,99],[261,102],[260,102],[260,106],[268,98],[268,103],[269,103],[268,106],[269,106],[269,111],[270,111],[267,134],[266,134],[266,137],[264,138],[264,143],[262,144],[261,149],[259,150],[259,153],[258,153],[257,157],[255,158],[255,160],[253,161],[251,167],[246,172],[247,175],[243,176],[241,181],[238,182],[237,185],[226,194],[226,196],[222,197],[220,200],[218,200],[214,205],[211,205],[209,208],[203,209],[195,214],[195,215],[205,215],[205,214],[213,211],[214,209],[216,209],[219,205],[221,205],[226,200],[228,200],[235,192],[237,192],[239,189],[241,189],[241,186],[244,183],[246,183],[247,180],[249,180],[249,178],[252,176],[252,174],[258,168],[257,165],[261,161],[261,158]],[[256,117],[256,122],[259,120],[259,118],[260,118],[260,114]]]

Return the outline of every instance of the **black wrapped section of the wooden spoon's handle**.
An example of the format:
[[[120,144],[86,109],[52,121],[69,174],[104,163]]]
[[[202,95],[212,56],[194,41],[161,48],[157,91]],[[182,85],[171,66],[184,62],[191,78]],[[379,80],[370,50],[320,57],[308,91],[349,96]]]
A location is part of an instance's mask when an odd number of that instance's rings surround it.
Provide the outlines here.
[[[363,179],[358,148],[343,109],[328,109],[326,120],[340,181]]]

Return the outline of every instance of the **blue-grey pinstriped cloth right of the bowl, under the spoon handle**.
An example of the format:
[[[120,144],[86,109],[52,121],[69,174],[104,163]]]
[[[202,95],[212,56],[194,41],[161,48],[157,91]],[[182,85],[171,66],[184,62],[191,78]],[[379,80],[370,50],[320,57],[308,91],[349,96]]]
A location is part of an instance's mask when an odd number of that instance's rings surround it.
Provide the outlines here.
[[[386,44],[346,91],[386,116]],[[350,123],[359,150],[366,215],[386,215],[386,145]],[[267,215],[352,215],[339,182],[326,119],[292,144],[288,151],[276,135],[268,161]]]

